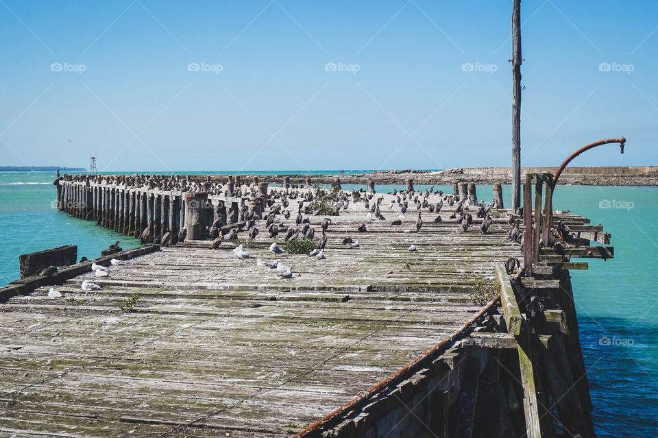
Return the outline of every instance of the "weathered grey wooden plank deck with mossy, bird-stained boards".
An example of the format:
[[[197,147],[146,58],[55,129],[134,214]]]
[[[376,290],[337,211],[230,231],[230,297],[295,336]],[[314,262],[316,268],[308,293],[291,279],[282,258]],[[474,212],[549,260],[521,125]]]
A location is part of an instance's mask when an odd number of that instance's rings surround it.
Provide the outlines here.
[[[71,278],[56,286],[62,298],[49,299],[49,287],[12,297],[0,305],[0,435],[299,432],[459,330],[480,310],[474,291],[520,255],[506,210],[482,234],[475,217],[462,232],[445,204],[442,223],[425,212],[416,232],[415,210],[391,225],[400,213],[390,199],[386,221],[368,219],[363,203],[332,217],[325,260],[276,256],[290,279],[256,265],[275,258],[271,242],[283,245],[259,220],[248,260],[230,242],[213,251],[187,241],[112,266],[106,278]],[[321,218],[310,217],[316,239]],[[293,225],[294,215],[277,221]],[[356,232],[361,223],[367,232]],[[361,249],[342,245],[346,236]],[[102,289],[84,293],[84,279]],[[136,293],[135,312],[121,311]]]

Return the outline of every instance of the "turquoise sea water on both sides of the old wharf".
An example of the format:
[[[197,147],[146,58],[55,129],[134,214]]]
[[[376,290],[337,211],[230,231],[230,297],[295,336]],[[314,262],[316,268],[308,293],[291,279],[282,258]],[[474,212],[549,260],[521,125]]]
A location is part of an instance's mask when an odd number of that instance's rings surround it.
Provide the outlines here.
[[[52,173],[0,172],[1,284],[19,277],[19,254],[73,243],[78,245],[78,257],[97,257],[114,241],[121,241],[125,249],[139,243],[52,208],[53,179]],[[390,191],[393,186],[376,188]],[[509,205],[509,187],[504,187],[504,195]],[[491,186],[478,186],[480,199],[489,201],[491,196]],[[554,201],[557,209],[572,210],[605,226],[615,247],[613,260],[590,259],[589,271],[572,271],[598,435],[656,437],[658,286],[653,269],[658,188],[559,186]]]

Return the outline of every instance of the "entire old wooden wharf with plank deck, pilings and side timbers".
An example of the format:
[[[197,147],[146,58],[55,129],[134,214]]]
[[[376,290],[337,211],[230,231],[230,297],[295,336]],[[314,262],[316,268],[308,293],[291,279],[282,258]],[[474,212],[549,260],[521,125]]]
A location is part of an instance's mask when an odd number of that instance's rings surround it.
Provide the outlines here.
[[[610,241],[601,226],[552,210],[546,175],[528,175],[522,211],[491,208],[485,233],[482,187],[407,191],[404,213],[397,195],[374,193],[383,220],[365,207],[367,193],[355,202],[339,192],[349,199],[339,215],[302,215],[315,243],[331,219],[324,259],[275,256],[269,246],[284,247],[284,236],[269,238],[260,219],[285,201],[292,215],[274,223],[301,228],[297,202],[316,192],[306,184],[114,178],[65,175],[58,208],[121,234],[148,230],[142,247],[0,289],[0,435],[595,436],[569,272],[587,269],[573,259],[613,249],[600,245]],[[459,193],[475,198],[467,231],[450,219]],[[415,196],[446,200],[437,213],[417,210]],[[255,212],[256,239],[242,210]],[[509,217],[522,243],[509,239]],[[238,230],[249,258],[232,241],[210,250],[204,233],[217,220]],[[161,245],[182,228],[184,242]],[[523,270],[506,269],[510,258]],[[92,263],[109,275],[96,278]],[[84,280],[101,289],[82,291]],[[49,298],[50,287],[63,297]]]

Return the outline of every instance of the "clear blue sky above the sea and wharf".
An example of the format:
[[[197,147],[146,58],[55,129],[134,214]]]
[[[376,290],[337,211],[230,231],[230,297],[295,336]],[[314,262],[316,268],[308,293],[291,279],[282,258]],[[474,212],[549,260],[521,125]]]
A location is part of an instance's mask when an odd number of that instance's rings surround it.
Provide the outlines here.
[[[1,0],[0,165],[509,165],[511,5]],[[523,165],[620,135],[577,165],[658,164],[658,2],[522,21]]]

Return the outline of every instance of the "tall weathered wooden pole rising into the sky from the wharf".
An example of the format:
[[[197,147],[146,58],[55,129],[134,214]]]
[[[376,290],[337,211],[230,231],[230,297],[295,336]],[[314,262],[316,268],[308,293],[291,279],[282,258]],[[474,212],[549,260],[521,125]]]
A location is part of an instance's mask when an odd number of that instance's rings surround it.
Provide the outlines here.
[[[512,12],[512,211],[521,206],[521,0]]]

